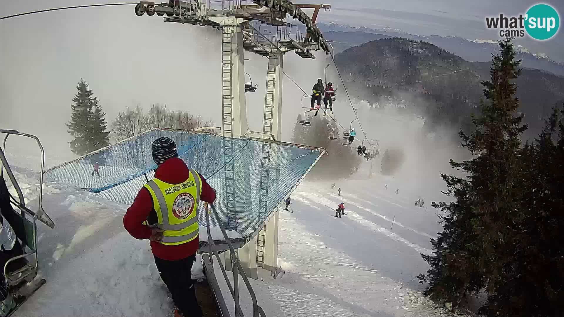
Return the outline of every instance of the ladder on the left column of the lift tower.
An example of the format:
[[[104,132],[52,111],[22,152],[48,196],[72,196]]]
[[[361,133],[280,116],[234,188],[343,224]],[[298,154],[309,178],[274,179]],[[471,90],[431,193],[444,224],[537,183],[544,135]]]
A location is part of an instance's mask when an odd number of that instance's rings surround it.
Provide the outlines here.
[[[231,53],[233,45],[231,28],[223,28],[221,43],[221,82],[223,116],[223,164],[225,165],[225,199],[228,230],[237,230],[235,203],[235,166],[233,157],[233,93],[231,85]]]

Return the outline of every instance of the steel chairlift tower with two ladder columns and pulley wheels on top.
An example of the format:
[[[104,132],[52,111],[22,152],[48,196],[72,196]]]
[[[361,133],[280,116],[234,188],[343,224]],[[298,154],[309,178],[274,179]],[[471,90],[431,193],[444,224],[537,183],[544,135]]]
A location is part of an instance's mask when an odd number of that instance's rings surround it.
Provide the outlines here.
[[[310,17],[302,9],[313,9],[314,13]],[[232,163],[236,155],[233,139],[258,136],[268,141],[280,140],[284,54],[294,51],[307,59],[315,59],[311,51],[330,54],[328,43],[315,25],[321,9],[331,10],[331,6],[299,5],[289,0],[170,0],[160,4],[141,1],[135,6],[138,16],[157,14],[164,16],[165,22],[209,26],[222,31],[222,131],[228,230],[236,230],[235,179],[243,177],[242,171],[236,171]],[[288,16],[299,24],[288,23]],[[244,50],[268,58],[260,132],[247,130],[245,91],[254,90],[245,89]],[[278,207],[267,210],[268,187],[278,185],[276,155],[270,142],[263,142],[259,217],[270,216],[254,239],[236,255],[245,263],[247,275],[255,279],[258,279],[258,268],[275,271],[278,267]]]

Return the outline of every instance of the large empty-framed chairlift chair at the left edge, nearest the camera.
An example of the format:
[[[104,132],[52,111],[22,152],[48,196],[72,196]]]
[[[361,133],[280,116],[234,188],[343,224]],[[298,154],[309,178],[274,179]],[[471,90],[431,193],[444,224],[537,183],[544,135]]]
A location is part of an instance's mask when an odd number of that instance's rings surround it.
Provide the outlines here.
[[[43,146],[39,139],[35,135],[20,133],[16,130],[2,130],[0,129],[0,133],[5,133],[6,137],[4,138],[3,146],[0,147],[0,164],[2,167],[0,168],[0,177],[3,177],[4,171],[8,175],[12,186],[14,186],[19,201],[16,200],[14,196],[8,194],[8,200],[10,200],[11,205],[13,205],[16,209],[13,208],[6,208],[2,210],[2,215],[6,219],[6,221],[10,222],[11,227],[14,229],[14,233],[17,239],[21,240],[21,246],[23,250],[23,254],[20,256],[12,257],[8,259],[6,265],[2,268],[2,274],[5,278],[5,285],[3,287],[8,287],[12,296],[20,296],[19,290],[23,282],[31,282],[33,281],[39,270],[39,261],[37,257],[37,221],[41,221],[45,223],[47,226],[51,228],[55,228],[55,223],[51,220],[49,215],[45,213],[42,206],[42,188],[43,188],[43,170],[45,167],[45,151],[43,151]],[[21,192],[21,188],[17,183],[17,180],[12,172],[10,165],[5,156],[6,151],[6,140],[11,135],[21,135],[24,137],[32,138],[37,141],[39,148],[41,149],[41,172],[39,173],[39,197],[38,197],[38,210],[37,212],[33,212],[25,205],[25,200],[23,193]],[[10,206],[11,207],[11,206]],[[16,210],[21,210],[17,212]],[[26,248],[27,247],[27,248]],[[23,265],[19,268],[16,268],[14,271],[9,271],[10,263],[17,261],[19,259],[30,259],[33,256],[33,261],[25,261],[27,263],[22,263]],[[21,261],[21,260],[20,260]],[[22,261],[23,262],[23,261]],[[28,289],[26,291],[27,294],[23,294],[25,297],[30,296],[35,290],[45,284],[45,279],[39,279],[33,285],[28,285]],[[18,306],[15,307],[17,309]],[[14,311],[15,311],[14,309]],[[13,311],[12,311],[13,312]]]

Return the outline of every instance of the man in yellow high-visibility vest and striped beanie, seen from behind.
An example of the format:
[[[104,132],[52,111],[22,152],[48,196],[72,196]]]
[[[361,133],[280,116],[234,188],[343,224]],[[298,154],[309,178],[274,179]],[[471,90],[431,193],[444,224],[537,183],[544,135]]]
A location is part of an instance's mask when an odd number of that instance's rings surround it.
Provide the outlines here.
[[[167,137],[153,142],[155,179],[137,194],[124,216],[124,227],[135,239],[149,239],[155,264],[178,310],[175,317],[201,317],[191,268],[199,245],[198,204],[215,200],[215,190],[178,158]]]

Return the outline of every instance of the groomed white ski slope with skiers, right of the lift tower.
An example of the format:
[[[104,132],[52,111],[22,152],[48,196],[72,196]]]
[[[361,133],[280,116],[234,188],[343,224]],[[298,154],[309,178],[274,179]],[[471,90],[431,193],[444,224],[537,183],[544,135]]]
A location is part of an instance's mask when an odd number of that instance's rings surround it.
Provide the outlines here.
[[[440,229],[435,212],[385,190],[384,182],[345,183],[342,196],[331,183],[305,182],[293,193],[290,212],[280,214],[285,274],[252,281],[259,305],[284,317],[446,316],[421,296],[416,279],[428,268],[420,253],[431,252],[429,239]],[[335,218],[340,202],[346,215]],[[249,298],[243,301],[251,311]]]

